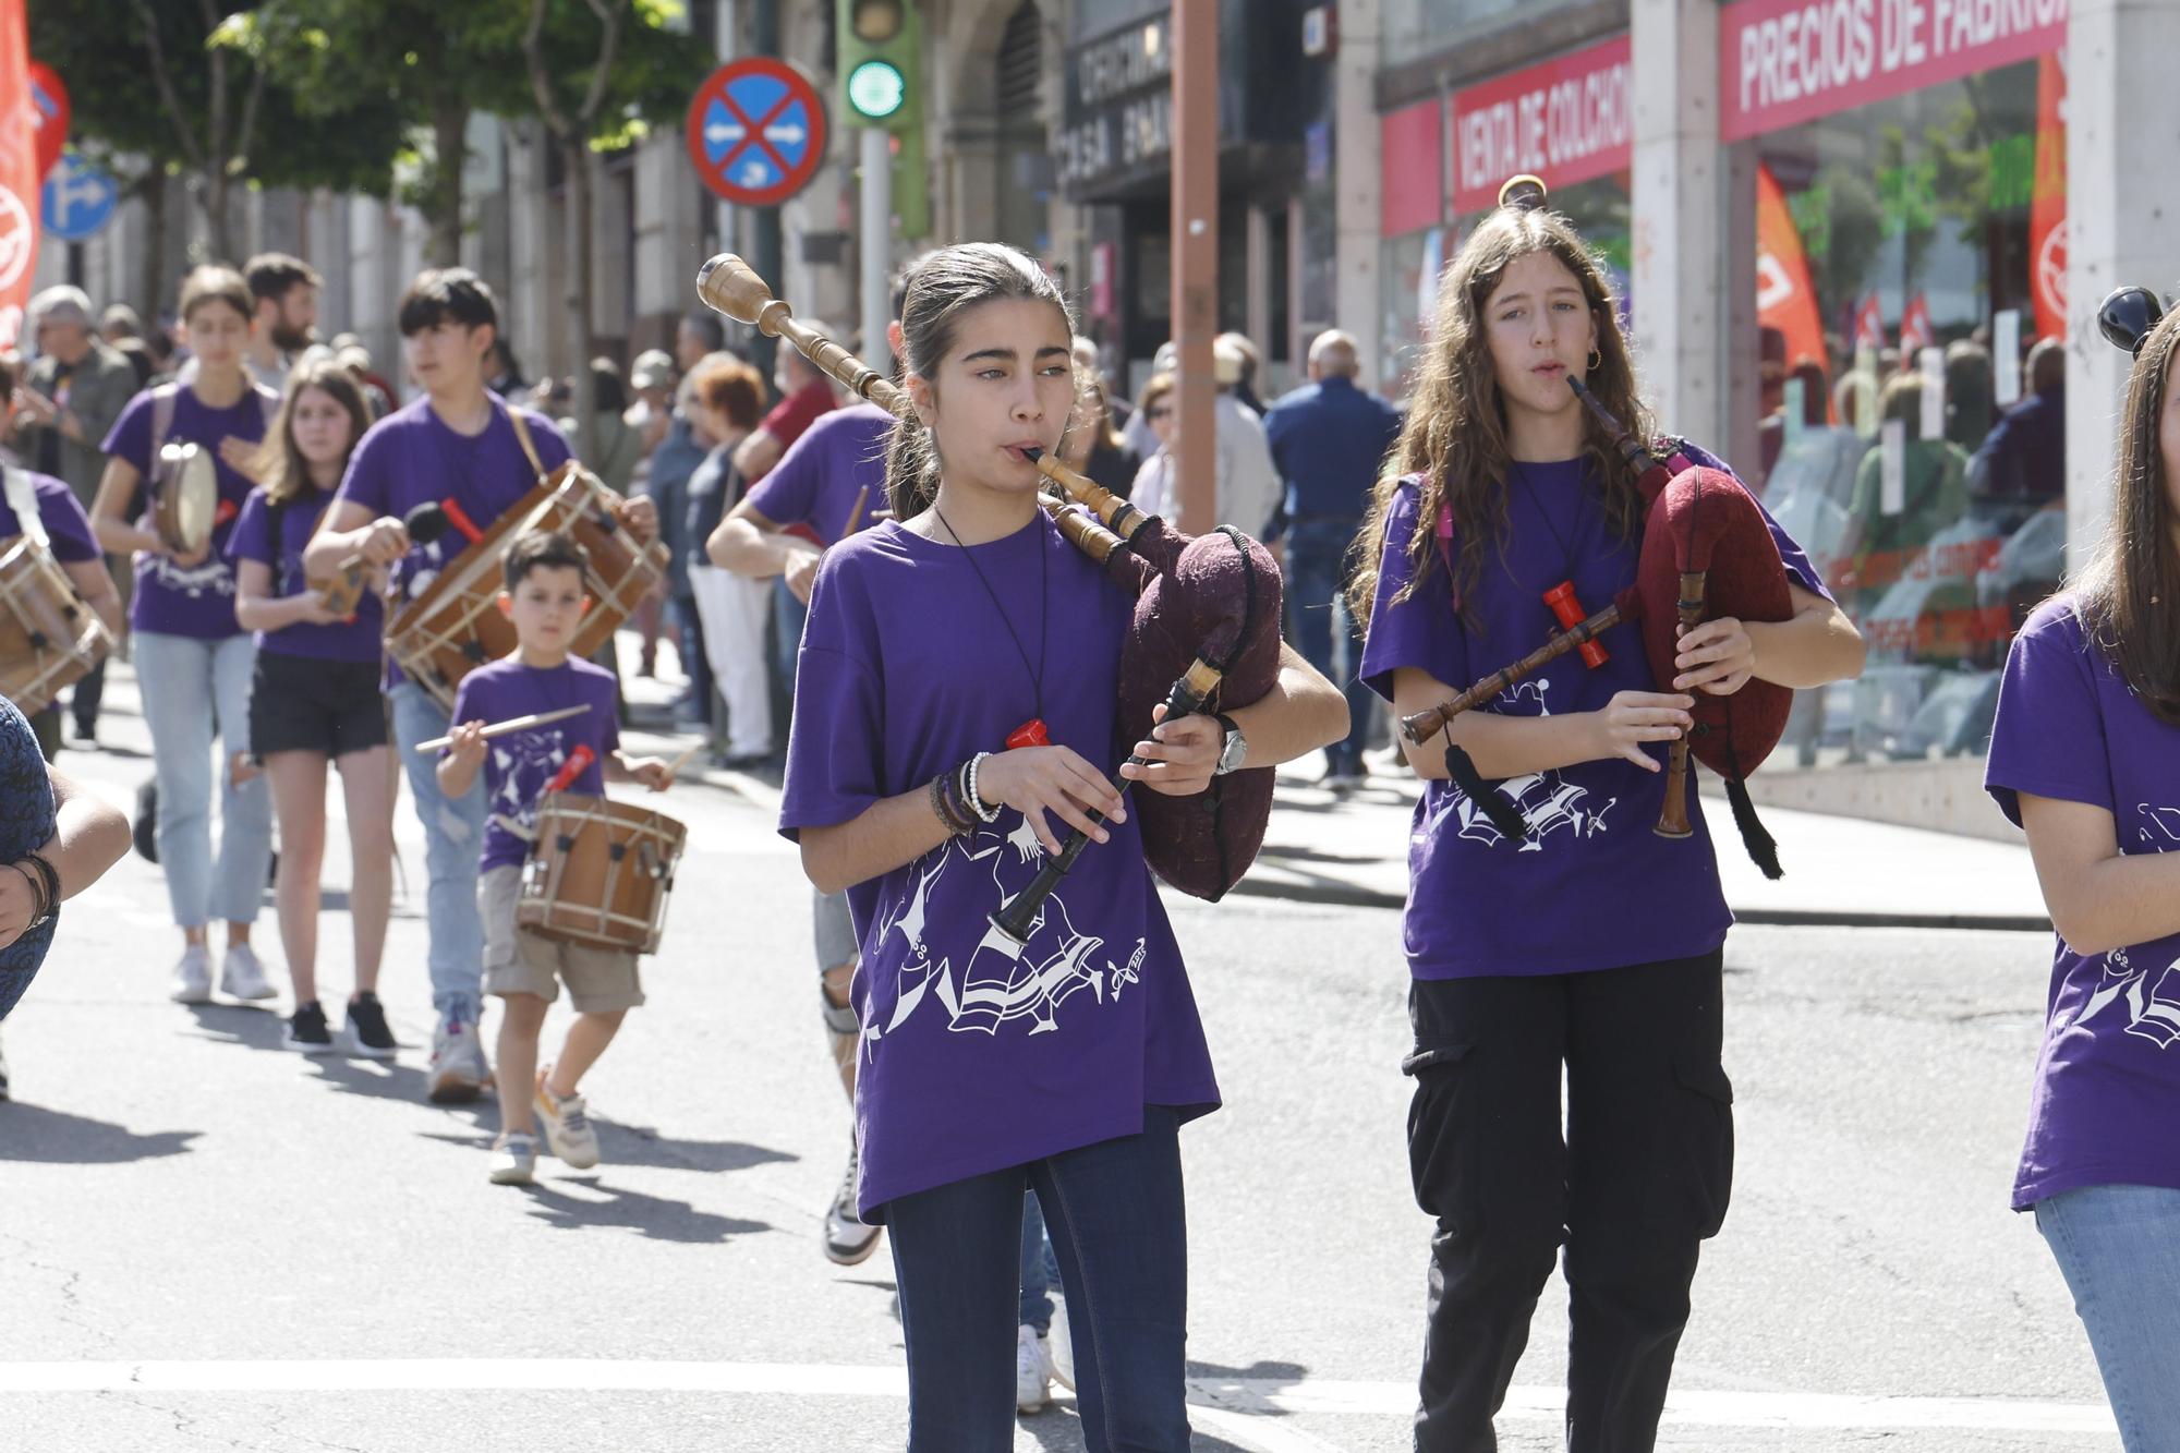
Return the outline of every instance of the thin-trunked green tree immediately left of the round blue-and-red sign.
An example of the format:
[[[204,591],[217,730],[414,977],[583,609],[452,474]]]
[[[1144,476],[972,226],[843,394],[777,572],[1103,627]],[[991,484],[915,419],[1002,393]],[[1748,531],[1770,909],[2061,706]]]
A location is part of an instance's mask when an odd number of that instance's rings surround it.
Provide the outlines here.
[[[680,7],[671,0],[528,0],[528,113],[545,122],[567,185],[562,301],[576,351],[576,421],[595,434],[591,153],[628,146],[656,122],[678,122],[713,59],[711,46],[674,28]]]

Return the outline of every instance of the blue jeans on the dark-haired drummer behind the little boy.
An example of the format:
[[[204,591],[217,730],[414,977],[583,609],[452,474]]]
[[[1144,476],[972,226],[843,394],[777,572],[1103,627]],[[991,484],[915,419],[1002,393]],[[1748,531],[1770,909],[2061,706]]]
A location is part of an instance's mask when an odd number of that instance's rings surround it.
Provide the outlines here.
[[[484,921],[477,916],[477,860],[484,853],[484,777],[462,796],[438,790],[438,757],[419,742],[447,735],[447,713],[414,681],[392,689],[395,748],[423,822],[423,868],[432,886],[425,923],[432,929],[432,1008],[440,1019],[477,1023],[484,1008]]]

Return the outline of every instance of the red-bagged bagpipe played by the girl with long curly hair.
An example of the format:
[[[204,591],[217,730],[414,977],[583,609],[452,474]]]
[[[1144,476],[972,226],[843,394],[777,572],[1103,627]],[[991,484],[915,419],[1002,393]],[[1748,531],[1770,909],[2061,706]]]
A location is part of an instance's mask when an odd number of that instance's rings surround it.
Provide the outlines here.
[[[1535,177],[1515,177],[1500,192],[1500,203],[1541,205],[1543,183]],[[1731,473],[1694,465],[1685,454],[1685,443],[1676,439],[1655,443],[1637,439],[1572,375],[1567,386],[1604,428],[1628,467],[1637,471],[1635,489],[1644,500],[1644,532],[1635,585],[1622,589],[1611,604],[1587,617],[1581,615],[1572,587],[1561,585],[1546,591],[1546,604],[1565,631],[1461,696],[1402,718],[1402,733],[1417,746],[1448,731],[1448,722],[1463,711],[1489,705],[1500,692],[1570,650],[1583,650],[1583,659],[1591,668],[1600,665],[1604,657],[1598,637],[1622,622],[1637,624],[1650,672],[1657,676],[1659,689],[1668,689],[1668,683],[1681,674],[1676,657],[1683,628],[1698,626],[1709,617],[1781,622],[1794,613],[1785,561],[1779,556],[1779,543],[1772,539],[1770,521],[1755,495]],[[1751,676],[1731,696],[1711,696],[1700,687],[1690,694],[1696,698],[1690,713],[1694,724],[1672,744],[1666,768],[1666,805],[1655,831],[1661,838],[1687,838],[1694,831],[1687,820],[1687,764],[1694,755],[1696,761],[1727,781],[1727,801],[1733,807],[1733,822],[1740,827],[1748,857],[1764,870],[1764,877],[1779,877],[1779,844],[1757,820],[1755,801],[1748,796],[1748,774],[1779,746],[1788,711],[1794,707],[1794,692]],[[1469,755],[1454,744],[1450,731],[1445,735],[1445,768],[1454,785],[1476,801],[1500,833],[1515,842],[1526,838],[1528,825],[1522,814],[1506,801],[1504,792],[1482,779]]]

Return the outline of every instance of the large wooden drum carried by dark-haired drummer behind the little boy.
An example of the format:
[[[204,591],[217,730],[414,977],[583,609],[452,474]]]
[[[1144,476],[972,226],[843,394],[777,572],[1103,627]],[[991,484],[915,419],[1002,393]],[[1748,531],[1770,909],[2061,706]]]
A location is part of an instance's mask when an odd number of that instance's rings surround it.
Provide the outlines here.
[[[501,556],[523,530],[560,530],[591,556],[582,589],[591,609],[569,652],[589,657],[667,574],[661,541],[639,545],[615,515],[621,497],[595,473],[569,460],[545,476],[501,515],[482,539],[471,541],[432,580],[432,587],[401,607],[386,626],[386,650],[410,681],[453,711],[453,687],[486,661],[514,650],[514,624],[499,613]]]

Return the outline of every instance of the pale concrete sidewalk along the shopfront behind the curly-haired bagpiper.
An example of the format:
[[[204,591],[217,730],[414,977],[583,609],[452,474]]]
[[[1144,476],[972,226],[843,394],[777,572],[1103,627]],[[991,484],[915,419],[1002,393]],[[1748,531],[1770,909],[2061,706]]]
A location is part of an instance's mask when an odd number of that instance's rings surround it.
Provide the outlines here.
[[[1264,851],[1236,892],[1400,908],[1419,783],[1382,761],[1373,753],[1369,783],[1345,798],[1315,785],[1315,755],[1282,768]],[[1768,881],[1742,851],[1724,796],[1707,794],[1703,812],[1727,903],[1742,923],[2051,932],[2025,842],[1761,807],[1785,868]]]

